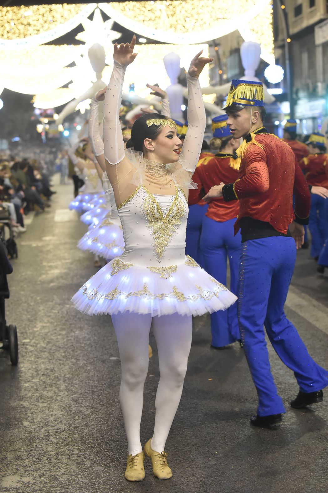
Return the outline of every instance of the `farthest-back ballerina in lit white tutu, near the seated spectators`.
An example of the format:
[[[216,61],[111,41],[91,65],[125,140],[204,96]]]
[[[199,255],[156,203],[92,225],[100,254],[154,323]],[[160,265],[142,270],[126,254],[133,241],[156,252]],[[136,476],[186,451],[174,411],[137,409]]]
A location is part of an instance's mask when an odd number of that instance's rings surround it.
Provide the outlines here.
[[[85,185],[83,193],[78,194],[69,205],[69,209],[82,212],[88,204],[103,192],[103,185],[98,176],[96,165],[93,161],[90,142],[77,142],[68,154],[73,165],[79,170]]]

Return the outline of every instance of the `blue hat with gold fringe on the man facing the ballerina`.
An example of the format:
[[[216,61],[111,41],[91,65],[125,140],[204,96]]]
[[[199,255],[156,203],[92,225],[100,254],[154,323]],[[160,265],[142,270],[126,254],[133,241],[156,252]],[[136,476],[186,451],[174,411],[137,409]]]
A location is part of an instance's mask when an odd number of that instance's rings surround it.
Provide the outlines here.
[[[230,91],[222,109],[238,111],[238,109],[242,109],[245,106],[264,106],[263,99],[262,82],[232,79]]]

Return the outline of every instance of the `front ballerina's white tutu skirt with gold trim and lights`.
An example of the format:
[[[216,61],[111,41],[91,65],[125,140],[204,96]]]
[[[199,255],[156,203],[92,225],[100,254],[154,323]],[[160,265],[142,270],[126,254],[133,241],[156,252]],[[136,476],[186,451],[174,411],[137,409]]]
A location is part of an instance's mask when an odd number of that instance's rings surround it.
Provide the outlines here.
[[[204,315],[237,300],[190,257],[170,267],[143,267],[114,258],[72,298],[87,315],[117,313]]]

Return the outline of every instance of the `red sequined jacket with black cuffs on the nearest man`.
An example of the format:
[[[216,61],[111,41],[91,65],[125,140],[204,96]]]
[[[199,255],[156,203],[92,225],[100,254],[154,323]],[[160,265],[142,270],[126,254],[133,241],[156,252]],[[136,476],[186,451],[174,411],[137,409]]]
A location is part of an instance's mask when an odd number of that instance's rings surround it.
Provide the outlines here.
[[[291,147],[261,127],[245,138],[240,149],[238,179],[222,189],[224,200],[239,199],[235,233],[242,217],[268,222],[284,234],[295,216],[298,222],[306,224],[310,191]]]

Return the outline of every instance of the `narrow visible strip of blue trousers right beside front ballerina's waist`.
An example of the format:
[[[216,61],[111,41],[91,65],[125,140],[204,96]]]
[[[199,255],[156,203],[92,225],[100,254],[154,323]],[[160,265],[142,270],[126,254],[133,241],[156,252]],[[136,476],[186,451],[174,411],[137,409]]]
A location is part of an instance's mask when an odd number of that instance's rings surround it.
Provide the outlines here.
[[[204,260],[200,251],[200,235],[202,232],[203,217],[208,205],[189,206],[187,229],[185,235],[185,254],[196,260],[197,264],[204,267]]]

